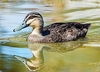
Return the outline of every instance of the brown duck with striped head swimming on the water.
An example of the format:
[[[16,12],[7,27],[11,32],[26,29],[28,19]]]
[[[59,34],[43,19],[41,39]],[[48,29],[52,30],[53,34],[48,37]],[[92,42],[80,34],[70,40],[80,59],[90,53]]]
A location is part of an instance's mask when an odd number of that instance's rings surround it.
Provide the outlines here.
[[[91,23],[84,22],[56,22],[44,26],[44,20],[39,12],[30,12],[22,24],[13,31],[17,32],[31,26],[33,31],[28,36],[28,42],[57,43],[76,41],[86,36]]]

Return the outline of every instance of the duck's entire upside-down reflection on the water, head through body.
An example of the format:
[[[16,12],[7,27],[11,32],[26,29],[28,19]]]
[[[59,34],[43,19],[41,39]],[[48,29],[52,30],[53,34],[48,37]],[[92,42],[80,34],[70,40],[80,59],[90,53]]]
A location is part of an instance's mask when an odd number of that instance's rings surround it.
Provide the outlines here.
[[[33,57],[30,59],[23,58],[15,55],[15,57],[20,60],[29,71],[38,71],[43,68],[44,56],[43,50],[52,52],[67,52],[72,51],[82,43],[79,41],[64,42],[64,43],[29,43],[28,47],[33,53]]]

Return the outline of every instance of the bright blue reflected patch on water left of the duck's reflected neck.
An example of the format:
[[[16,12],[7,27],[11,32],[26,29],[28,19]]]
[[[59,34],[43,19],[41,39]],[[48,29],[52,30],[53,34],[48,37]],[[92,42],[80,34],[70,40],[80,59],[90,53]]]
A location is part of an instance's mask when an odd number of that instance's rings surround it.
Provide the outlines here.
[[[17,48],[9,46],[1,46],[0,54],[18,55],[26,58],[32,57],[32,53],[28,48]]]

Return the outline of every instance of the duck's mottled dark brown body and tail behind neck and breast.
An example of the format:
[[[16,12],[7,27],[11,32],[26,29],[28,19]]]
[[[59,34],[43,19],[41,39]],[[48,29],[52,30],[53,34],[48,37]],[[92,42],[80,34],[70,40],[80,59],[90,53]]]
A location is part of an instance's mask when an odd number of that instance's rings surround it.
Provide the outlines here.
[[[66,22],[53,23],[43,28],[42,42],[66,42],[85,37],[90,23]]]

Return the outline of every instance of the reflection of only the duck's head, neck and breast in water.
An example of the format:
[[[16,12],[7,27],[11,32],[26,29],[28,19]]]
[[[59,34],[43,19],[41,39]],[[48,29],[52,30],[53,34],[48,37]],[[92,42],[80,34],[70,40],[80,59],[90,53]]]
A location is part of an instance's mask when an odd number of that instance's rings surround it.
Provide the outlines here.
[[[20,60],[29,71],[37,71],[43,67],[44,58],[43,58],[43,46],[41,44],[28,44],[29,49],[33,53],[33,57],[30,59],[20,57],[15,55],[15,57]]]

